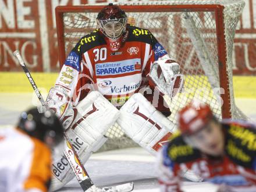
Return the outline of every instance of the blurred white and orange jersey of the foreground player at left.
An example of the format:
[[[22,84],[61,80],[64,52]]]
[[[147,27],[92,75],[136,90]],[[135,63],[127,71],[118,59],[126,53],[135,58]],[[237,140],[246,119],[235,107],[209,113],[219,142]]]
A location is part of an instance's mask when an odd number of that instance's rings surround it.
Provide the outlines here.
[[[51,181],[51,151],[13,128],[0,129],[0,191],[45,192]]]

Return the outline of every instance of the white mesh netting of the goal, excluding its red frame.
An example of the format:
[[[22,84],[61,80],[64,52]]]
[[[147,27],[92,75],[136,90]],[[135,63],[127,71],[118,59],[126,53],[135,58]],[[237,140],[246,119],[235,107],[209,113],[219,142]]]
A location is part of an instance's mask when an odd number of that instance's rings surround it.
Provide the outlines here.
[[[237,0],[222,1],[147,1],[122,2],[120,5],[207,5],[221,4],[224,9],[226,75],[228,75],[230,92],[230,114],[232,118],[246,118],[234,104],[232,85],[232,48],[234,31],[241,15],[244,2]],[[147,28],[175,59],[185,76],[185,89],[172,100],[165,97],[170,111],[170,120],[176,123],[176,114],[191,99],[198,99],[210,104],[219,119],[221,113],[221,89],[219,89],[219,55],[216,36],[215,12],[207,10],[195,11],[187,6],[186,12],[126,12],[127,16],[136,20],[136,26]],[[97,13],[65,13],[66,55],[84,35],[97,28]],[[224,90],[226,91],[226,90]],[[133,146],[133,142],[125,136],[116,124],[109,129],[107,136],[111,139],[105,148]]]

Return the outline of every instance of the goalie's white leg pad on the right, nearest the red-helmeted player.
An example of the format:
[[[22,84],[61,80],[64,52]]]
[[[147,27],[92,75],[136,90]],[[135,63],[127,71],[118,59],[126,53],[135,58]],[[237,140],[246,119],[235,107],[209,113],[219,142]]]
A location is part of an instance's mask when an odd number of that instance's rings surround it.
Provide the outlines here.
[[[118,124],[141,147],[156,154],[176,125],[162,115],[141,93],[135,93],[120,108]]]

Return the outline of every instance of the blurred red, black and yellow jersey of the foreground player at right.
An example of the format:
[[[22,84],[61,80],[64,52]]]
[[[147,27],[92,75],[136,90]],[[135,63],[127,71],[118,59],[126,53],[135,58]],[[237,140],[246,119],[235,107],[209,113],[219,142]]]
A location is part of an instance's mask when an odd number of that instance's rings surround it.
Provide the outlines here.
[[[234,192],[256,191],[256,129],[241,122],[225,121],[225,155],[208,157],[174,137],[158,154],[158,180],[162,192],[180,192],[182,172],[191,169],[205,181],[226,184]]]

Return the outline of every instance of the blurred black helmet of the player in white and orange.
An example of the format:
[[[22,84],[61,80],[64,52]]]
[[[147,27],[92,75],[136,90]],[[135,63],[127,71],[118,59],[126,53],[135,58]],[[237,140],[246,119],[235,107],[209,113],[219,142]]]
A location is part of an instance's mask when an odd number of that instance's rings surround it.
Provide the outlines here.
[[[24,111],[17,126],[31,137],[48,144],[49,147],[54,147],[63,140],[62,124],[50,110],[44,113],[38,113],[37,108]]]

